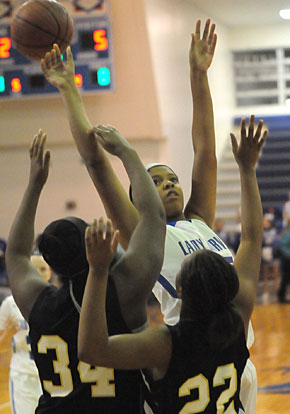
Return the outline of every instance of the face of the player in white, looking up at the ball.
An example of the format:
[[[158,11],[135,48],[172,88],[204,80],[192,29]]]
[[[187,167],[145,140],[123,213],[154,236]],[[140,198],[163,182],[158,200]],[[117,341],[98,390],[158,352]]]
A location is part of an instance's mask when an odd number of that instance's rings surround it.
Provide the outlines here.
[[[183,191],[178,177],[166,166],[149,170],[165,208],[167,220],[178,220],[183,215]]]

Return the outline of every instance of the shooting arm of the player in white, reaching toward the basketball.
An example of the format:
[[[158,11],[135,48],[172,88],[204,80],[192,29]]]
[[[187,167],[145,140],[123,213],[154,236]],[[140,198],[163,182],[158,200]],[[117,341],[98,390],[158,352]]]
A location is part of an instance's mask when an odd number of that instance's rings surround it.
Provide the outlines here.
[[[66,55],[67,62],[64,63],[58,46],[54,45],[51,53],[47,53],[41,60],[41,68],[46,79],[62,96],[78,151],[100,195],[107,216],[112,219],[114,227],[120,230],[120,242],[126,249],[138,222],[138,213],[112,169],[109,158],[92,133],[92,124],[75,84],[70,47],[67,48]]]

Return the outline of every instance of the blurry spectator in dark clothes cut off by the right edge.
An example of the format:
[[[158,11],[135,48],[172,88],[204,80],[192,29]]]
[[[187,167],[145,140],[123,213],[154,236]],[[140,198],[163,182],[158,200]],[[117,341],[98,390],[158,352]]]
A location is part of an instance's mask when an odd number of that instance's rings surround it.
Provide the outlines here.
[[[287,227],[282,234],[279,245],[280,263],[281,263],[281,283],[278,290],[278,302],[290,303],[286,299],[287,286],[290,284],[290,217],[287,221]]]

